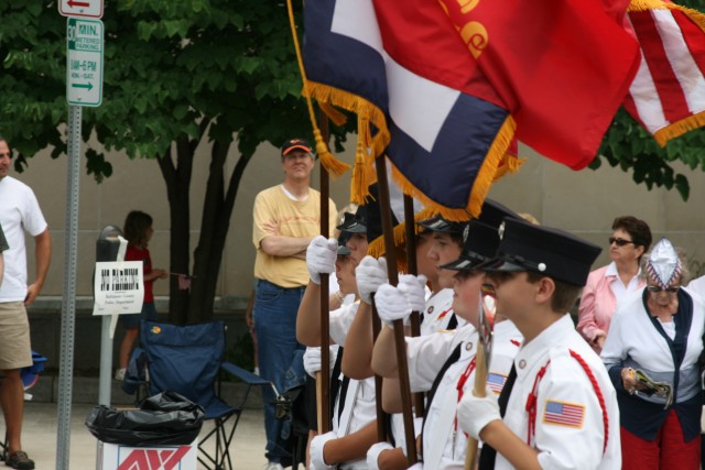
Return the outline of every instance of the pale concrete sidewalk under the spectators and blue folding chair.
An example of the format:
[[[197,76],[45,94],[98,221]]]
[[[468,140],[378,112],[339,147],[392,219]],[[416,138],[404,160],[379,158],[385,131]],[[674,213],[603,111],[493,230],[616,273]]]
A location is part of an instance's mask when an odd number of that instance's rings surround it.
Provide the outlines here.
[[[96,469],[97,440],[84,422],[93,408],[89,404],[72,406],[69,468],[72,470]],[[204,430],[209,425],[204,425]],[[4,423],[0,416],[0,429]],[[202,430],[203,433],[203,430]],[[57,405],[56,403],[28,402],[24,408],[22,441],[37,470],[56,468]],[[235,431],[230,449],[236,469],[262,469],[264,459],[264,424],[261,409],[246,409]],[[0,463],[2,468],[4,466]],[[199,469],[204,468],[199,464]]]

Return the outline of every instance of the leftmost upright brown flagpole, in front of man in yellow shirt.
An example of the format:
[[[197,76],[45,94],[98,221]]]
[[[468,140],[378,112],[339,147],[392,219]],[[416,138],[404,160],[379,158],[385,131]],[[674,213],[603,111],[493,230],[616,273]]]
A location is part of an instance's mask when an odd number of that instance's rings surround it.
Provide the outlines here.
[[[318,127],[323,140],[328,144],[328,118],[323,111],[318,114]],[[328,238],[330,221],[328,217],[329,178],[328,171],[321,166],[321,234]],[[318,407],[318,434],[330,430],[330,349],[329,346],[329,284],[328,274],[321,273],[321,371],[316,373],[316,397]]]

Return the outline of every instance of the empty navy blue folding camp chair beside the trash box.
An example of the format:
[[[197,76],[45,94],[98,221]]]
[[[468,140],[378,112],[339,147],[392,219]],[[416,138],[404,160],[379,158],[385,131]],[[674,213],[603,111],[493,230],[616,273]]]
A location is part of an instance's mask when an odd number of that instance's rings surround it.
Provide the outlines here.
[[[270,383],[224,361],[223,321],[187,326],[142,321],[141,340],[147,354],[150,395],[173,391],[200,405],[206,413],[204,420],[213,420],[214,428],[199,438],[198,461],[209,470],[232,469],[230,442],[248,394],[253,385],[269,386]],[[216,393],[220,371],[248,385],[237,406],[225,403]],[[215,437],[213,455],[205,448],[212,437]]]

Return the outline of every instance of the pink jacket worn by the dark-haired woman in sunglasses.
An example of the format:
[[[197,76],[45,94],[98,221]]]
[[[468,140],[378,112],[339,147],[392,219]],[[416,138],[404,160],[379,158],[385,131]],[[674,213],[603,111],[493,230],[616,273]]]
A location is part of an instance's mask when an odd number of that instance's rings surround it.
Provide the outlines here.
[[[593,271],[587,276],[587,284],[583,288],[581,306],[577,313],[577,330],[599,354],[600,348],[593,343],[599,332],[609,331],[609,323],[617,308],[617,297],[612,293],[610,284],[617,278],[608,275],[609,264]],[[646,285],[646,281],[639,280],[639,288]]]

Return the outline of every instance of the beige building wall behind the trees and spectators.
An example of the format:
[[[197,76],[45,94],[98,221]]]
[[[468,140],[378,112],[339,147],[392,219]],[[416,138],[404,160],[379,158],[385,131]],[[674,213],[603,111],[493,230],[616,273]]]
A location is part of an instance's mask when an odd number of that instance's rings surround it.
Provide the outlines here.
[[[350,151],[339,156],[351,163],[354,139],[348,146]],[[705,263],[703,172],[679,166],[679,171],[691,183],[690,200],[683,201],[675,190],[648,190],[643,185],[636,185],[630,174],[608,165],[603,165],[597,172],[573,172],[527,147],[521,147],[520,153],[527,157],[524,165],[517,174],[497,182],[489,196],[517,211],[534,215],[542,223],[575,232],[603,245],[605,251],[595,267],[608,262],[607,237],[611,232],[612,219],[633,215],[649,222],[654,240],[661,236],[669,237],[686,250],[695,271],[705,271],[701,267]],[[113,165],[113,174],[102,184],[96,184],[91,176],[85,175],[85,160],[80,165],[78,296],[90,295],[95,243],[100,230],[107,225],[121,227],[126,215],[132,209],[144,210],[153,216],[155,232],[150,243],[153,264],[169,269],[169,203],[159,166],[152,160],[129,161],[117,153],[109,154],[108,160]],[[208,163],[207,149],[200,149],[192,181],[192,252],[198,240]],[[235,165],[235,153],[228,164],[230,168]],[[52,265],[42,294],[45,297],[61,296],[65,261],[67,161],[65,157],[52,160],[48,153],[39,154],[30,160],[24,173],[13,173],[13,176],[34,188],[52,231]],[[223,298],[236,300],[238,307],[243,305],[242,299],[247,298],[252,286],[254,248],[251,241],[251,208],[254,196],[261,189],[281,183],[282,176],[279,151],[262,145],[248,165],[240,184],[217,291]],[[317,187],[317,171],[313,182]],[[330,183],[330,194],[338,208],[347,204],[349,174]],[[33,259],[30,260],[30,269],[33,270]],[[158,296],[169,294],[165,282],[156,282],[154,289]]]

